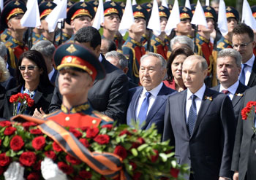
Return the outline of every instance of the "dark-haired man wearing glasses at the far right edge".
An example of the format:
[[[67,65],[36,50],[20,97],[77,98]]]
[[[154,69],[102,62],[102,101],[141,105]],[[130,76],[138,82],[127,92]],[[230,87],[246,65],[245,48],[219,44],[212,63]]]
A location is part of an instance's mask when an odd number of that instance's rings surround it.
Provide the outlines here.
[[[233,48],[242,56],[241,73],[239,80],[246,86],[256,85],[256,60],[253,54],[255,47],[252,28],[241,23],[233,30]]]

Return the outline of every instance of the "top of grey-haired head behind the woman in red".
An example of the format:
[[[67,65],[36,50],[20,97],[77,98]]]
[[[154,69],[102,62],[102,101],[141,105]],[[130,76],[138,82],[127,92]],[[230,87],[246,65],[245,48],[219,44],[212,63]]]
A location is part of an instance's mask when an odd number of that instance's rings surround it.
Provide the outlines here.
[[[170,40],[171,50],[184,46],[189,47],[192,51],[194,51],[194,42],[188,36],[175,36],[172,40]]]

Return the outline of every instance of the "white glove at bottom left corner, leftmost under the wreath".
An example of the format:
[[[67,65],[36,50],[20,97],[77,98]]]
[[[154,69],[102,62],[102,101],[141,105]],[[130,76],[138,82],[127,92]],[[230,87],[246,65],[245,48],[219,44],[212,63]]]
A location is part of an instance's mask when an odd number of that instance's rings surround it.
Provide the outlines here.
[[[20,165],[18,162],[12,162],[7,171],[4,172],[5,180],[24,180],[24,167]]]

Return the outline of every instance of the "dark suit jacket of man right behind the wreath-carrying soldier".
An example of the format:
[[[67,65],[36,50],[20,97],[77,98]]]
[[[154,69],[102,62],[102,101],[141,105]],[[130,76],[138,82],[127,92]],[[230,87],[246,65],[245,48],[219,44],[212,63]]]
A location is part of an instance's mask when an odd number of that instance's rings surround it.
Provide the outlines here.
[[[89,90],[88,99],[93,109],[106,114],[113,120],[125,123],[127,109],[128,79],[121,69],[116,68],[102,55],[102,66],[105,68],[105,79],[95,80]],[[56,79],[57,80],[57,79]],[[56,111],[61,106],[59,85],[56,82],[53,99],[49,111]]]

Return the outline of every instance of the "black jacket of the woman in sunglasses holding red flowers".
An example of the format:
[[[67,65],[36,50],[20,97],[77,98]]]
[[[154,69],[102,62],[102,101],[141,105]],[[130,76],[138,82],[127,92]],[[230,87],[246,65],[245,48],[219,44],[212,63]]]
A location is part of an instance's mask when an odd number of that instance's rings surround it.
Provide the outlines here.
[[[11,90],[7,90],[7,93],[4,97],[4,115],[3,117],[7,120],[12,117],[13,114],[13,104],[10,103],[10,97],[12,95],[15,95],[17,93],[20,93],[21,85],[18,87],[15,87]],[[53,97],[53,86],[48,87],[37,87],[37,93],[34,95],[34,106],[27,108],[27,114],[33,115],[34,110],[37,108],[39,110],[40,107],[42,107],[42,110],[45,111],[46,114],[48,114],[48,108],[50,105],[51,98]]]

